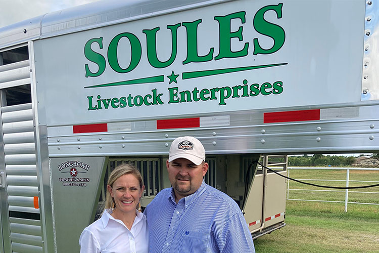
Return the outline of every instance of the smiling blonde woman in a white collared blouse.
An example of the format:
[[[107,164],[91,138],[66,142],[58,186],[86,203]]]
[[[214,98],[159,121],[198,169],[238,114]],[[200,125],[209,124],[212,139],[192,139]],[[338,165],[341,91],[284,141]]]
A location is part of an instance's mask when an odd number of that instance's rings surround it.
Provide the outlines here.
[[[136,209],[144,189],[133,165],[117,166],[108,179],[102,217],[80,235],[80,253],[148,253],[146,217]]]

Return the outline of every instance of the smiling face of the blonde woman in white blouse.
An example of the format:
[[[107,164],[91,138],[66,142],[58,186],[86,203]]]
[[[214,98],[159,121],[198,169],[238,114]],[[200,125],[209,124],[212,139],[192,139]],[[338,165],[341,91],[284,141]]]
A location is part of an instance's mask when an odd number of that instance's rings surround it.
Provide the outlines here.
[[[116,211],[124,213],[135,213],[138,202],[145,187],[139,187],[139,181],[133,174],[119,177],[113,187],[107,186],[108,191],[116,203]]]

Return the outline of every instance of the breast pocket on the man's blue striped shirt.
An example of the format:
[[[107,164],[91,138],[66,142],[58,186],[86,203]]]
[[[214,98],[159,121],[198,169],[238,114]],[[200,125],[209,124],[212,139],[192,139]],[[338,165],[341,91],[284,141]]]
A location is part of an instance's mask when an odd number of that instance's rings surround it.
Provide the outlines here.
[[[182,235],[183,252],[207,252],[208,234],[196,231],[185,231]]]

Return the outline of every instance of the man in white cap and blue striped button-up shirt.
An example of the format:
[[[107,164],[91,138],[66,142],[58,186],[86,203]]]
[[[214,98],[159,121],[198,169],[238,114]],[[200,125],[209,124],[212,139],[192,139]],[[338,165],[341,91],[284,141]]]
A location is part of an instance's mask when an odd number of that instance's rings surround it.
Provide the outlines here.
[[[239,206],[204,182],[208,163],[198,139],[176,138],[166,165],[172,187],[145,209],[150,253],[255,252]]]

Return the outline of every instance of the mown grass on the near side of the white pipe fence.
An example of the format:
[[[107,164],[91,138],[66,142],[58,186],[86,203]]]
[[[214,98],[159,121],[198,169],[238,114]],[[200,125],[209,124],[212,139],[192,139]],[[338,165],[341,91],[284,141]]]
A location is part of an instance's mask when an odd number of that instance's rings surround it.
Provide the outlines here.
[[[378,253],[379,206],[287,201],[287,226],[254,241],[257,253]]]

